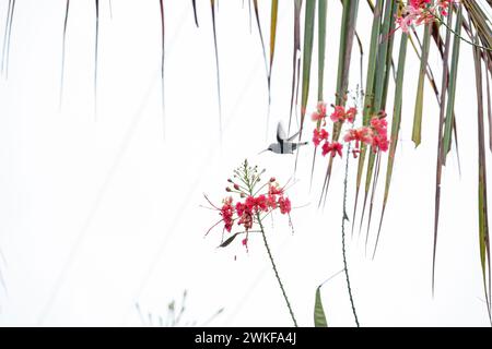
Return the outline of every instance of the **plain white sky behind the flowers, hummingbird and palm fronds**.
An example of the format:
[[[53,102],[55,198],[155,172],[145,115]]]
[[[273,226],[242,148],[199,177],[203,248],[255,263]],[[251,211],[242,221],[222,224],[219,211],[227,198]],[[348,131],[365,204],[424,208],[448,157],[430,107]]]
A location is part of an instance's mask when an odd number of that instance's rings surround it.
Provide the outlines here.
[[[294,157],[257,155],[269,143],[265,139],[267,83],[255,22],[249,33],[247,1],[242,9],[239,0],[222,0],[218,12],[224,129],[220,146],[210,7],[209,1],[197,2],[199,28],[191,1],[165,1],[164,141],[157,0],[113,0],[113,20],[108,2],[101,1],[96,118],[93,1],[71,1],[61,111],[65,1],[16,1],[9,79],[0,82],[0,246],[7,260],[0,267],[8,287],[8,292],[0,291],[1,325],[141,326],[136,302],[143,312],[165,315],[167,303],[185,289],[189,296],[185,321],[202,324],[224,308],[210,325],[291,325],[259,236],[251,237],[248,254],[239,241],[218,250],[220,229],[203,239],[218,218],[199,207],[204,204],[203,192],[220,203],[226,179],[246,157],[267,168],[267,177],[285,182]],[[280,2],[269,141],[277,121],[286,124],[289,118],[293,9],[292,1]],[[0,1],[0,27],[7,4]],[[341,7],[335,0],[328,5],[325,95],[332,103]],[[260,11],[268,43],[270,2],[260,1]],[[370,11],[361,1],[358,31],[366,53],[370,27]],[[432,50],[430,60],[440,80],[441,59],[434,46]],[[359,82],[359,57],[354,48],[351,88]],[[471,50],[462,45],[456,105],[461,176],[453,149],[443,177],[434,299],[438,110],[426,83],[423,141],[414,149],[410,135],[419,61],[410,46],[408,59],[401,142],[374,262],[371,253],[364,254],[359,230],[350,239],[348,224],[349,269],[359,317],[363,326],[487,326],[478,246]],[[308,110],[316,104],[316,63],[313,72]],[[309,121],[306,135],[311,137]],[[280,215],[273,226],[266,226],[303,326],[313,325],[316,287],[342,268],[343,166],[337,161],[327,207],[318,210],[325,168],[317,166],[309,194],[312,152],[312,145],[301,152],[298,183],[289,193],[293,206],[309,204],[292,214],[294,236]],[[318,157],[318,164],[325,160]],[[350,163],[350,217],[355,164]],[[386,161],[382,170],[383,178]],[[383,181],[370,248],[382,190]],[[329,325],[354,324],[342,275],[324,286],[323,298]]]

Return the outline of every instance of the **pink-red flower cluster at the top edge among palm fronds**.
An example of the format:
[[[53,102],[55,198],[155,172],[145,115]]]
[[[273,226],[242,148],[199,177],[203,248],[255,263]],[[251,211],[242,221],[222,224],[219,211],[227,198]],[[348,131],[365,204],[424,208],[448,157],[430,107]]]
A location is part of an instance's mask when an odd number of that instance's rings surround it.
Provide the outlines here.
[[[457,1],[437,0],[436,4],[432,5],[431,0],[409,0],[407,7],[403,9],[402,15],[397,17],[396,24],[401,31],[408,33],[412,25],[434,22],[436,20],[436,13],[446,16],[449,2]]]

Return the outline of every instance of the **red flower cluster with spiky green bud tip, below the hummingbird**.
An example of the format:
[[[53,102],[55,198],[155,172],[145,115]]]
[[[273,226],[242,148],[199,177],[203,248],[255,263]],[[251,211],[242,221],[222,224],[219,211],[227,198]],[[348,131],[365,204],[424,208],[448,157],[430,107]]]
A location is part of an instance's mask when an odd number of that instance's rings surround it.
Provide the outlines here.
[[[237,194],[239,200],[234,202],[232,196],[226,196],[222,201],[221,207],[216,207],[209,201],[212,209],[219,210],[221,216],[221,220],[210,228],[209,231],[220,224],[224,225],[223,229],[227,232],[233,230],[234,225],[241,226],[243,227],[243,232],[246,233],[243,244],[247,246],[248,232],[255,224],[258,224],[265,216],[277,209],[282,215],[289,215],[292,205],[290,198],[285,195],[284,188],[279,185],[276,178],[271,178],[261,185],[260,173],[258,173],[256,167],[248,167],[247,161],[245,161],[245,167],[237,169],[235,173],[234,178],[237,178],[237,182],[229,179],[230,185],[225,191]],[[257,186],[259,188],[257,189]],[[239,231],[238,233],[242,232]]]

